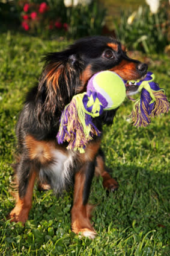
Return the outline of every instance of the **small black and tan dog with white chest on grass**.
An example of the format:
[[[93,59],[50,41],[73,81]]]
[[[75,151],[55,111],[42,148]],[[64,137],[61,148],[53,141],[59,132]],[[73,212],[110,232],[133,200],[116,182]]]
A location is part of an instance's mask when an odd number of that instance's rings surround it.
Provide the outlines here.
[[[16,205],[9,214],[11,221],[25,223],[32,205],[34,182],[38,188],[55,193],[74,185],[71,228],[76,234],[94,238],[90,222],[93,206],[88,203],[91,182],[96,173],[103,187],[115,191],[118,183],[105,166],[100,143],[102,136],[88,142],[85,153],[59,145],[56,134],[62,110],[76,94],[85,92],[88,80],[99,71],[116,72],[124,80],[136,80],[147,73],[147,64],[127,57],[118,40],[92,36],[77,40],[61,52],[47,53],[38,84],[29,91],[16,126],[19,159],[15,164]],[[137,91],[126,87],[128,94]],[[93,123],[102,132],[103,124],[112,124],[117,109],[103,112]]]

